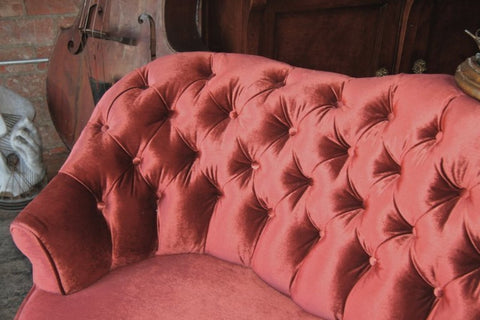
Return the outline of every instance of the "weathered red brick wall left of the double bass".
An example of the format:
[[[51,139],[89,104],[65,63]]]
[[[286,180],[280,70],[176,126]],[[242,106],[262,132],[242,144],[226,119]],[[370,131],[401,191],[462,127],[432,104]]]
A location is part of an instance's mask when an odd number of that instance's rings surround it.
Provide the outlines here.
[[[82,0],[0,0],[0,61],[48,58],[61,27],[70,26]],[[29,99],[52,176],[67,153],[46,102],[48,63],[0,66],[0,85]]]

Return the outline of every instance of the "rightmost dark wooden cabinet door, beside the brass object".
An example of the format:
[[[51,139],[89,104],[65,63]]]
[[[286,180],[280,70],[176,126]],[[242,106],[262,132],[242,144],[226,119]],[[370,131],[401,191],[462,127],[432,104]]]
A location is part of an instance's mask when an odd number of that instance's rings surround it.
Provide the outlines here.
[[[415,62],[427,73],[455,73],[478,51],[464,32],[480,28],[480,0],[416,0],[409,13],[405,43],[397,72],[411,73]]]

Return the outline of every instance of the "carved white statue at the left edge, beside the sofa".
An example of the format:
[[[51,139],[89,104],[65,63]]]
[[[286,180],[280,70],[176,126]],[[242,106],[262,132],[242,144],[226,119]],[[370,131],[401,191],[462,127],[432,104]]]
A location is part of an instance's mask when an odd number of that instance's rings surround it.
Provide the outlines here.
[[[0,196],[17,197],[45,177],[30,101],[0,86]]]

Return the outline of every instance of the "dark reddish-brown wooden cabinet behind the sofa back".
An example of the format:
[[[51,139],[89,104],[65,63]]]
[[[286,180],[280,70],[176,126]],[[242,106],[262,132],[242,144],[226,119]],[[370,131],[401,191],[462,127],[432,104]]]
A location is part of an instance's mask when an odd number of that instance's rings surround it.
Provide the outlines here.
[[[214,51],[352,76],[450,73],[476,51],[479,0],[204,0]]]

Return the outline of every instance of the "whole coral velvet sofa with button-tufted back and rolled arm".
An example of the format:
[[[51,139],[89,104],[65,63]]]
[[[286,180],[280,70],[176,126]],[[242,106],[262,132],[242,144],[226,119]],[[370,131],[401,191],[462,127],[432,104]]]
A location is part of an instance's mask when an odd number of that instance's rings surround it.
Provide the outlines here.
[[[479,319],[480,103],[449,75],[162,57],[11,233],[18,319]]]

